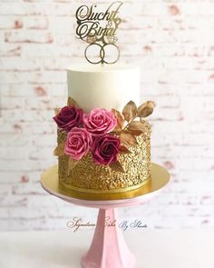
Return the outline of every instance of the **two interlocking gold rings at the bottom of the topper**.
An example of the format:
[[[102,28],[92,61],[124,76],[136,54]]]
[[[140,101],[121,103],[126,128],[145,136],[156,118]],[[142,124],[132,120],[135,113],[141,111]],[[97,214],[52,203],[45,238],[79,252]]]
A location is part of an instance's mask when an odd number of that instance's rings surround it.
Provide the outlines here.
[[[97,46],[99,46],[99,48],[100,48],[100,52],[99,52],[99,57],[100,57],[100,59],[98,60],[98,61],[92,61],[92,59],[90,59],[90,55],[87,55],[87,51],[88,51],[88,49],[90,48],[90,47],[92,47],[92,45],[94,46],[94,45],[97,45]],[[116,49],[116,51],[117,51],[117,55],[116,55],[116,58],[114,59],[114,60],[112,60],[112,61],[108,61],[108,60],[106,60],[106,57],[108,56],[108,55],[106,55],[106,52],[105,52],[105,48],[107,47],[107,46],[112,46],[112,47],[114,47],[115,49]],[[92,43],[92,44],[90,44],[90,45],[88,45],[87,47],[86,47],[86,49],[85,49],[85,51],[84,51],[84,56],[85,56],[85,58],[87,59],[87,61],[90,63],[90,64],[92,64],[92,65],[98,65],[98,64],[107,64],[107,65],[113,65],[113,64],[115,64],[118,60],[119,60],[119,58],[120,58],[120,50],[119,50],[119,47],[117,46],[117,45],[115,45],[115,44],[105,44],[105,45],[100,45],[100,44],[97,44],[97,43]],[[97,56],[97,55],[96,55]]]

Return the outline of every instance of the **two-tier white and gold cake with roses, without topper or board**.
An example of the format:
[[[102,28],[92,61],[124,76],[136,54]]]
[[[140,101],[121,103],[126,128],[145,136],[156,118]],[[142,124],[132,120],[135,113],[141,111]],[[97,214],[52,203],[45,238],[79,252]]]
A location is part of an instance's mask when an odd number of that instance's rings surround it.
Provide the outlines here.
[[[73,65],[68,103],[56,109],[60,184],[84,193],[121,193],[151,179],[154,104],[139,104],[140,70],[133,65]],[[132,100],[132,101],[131,101]]]

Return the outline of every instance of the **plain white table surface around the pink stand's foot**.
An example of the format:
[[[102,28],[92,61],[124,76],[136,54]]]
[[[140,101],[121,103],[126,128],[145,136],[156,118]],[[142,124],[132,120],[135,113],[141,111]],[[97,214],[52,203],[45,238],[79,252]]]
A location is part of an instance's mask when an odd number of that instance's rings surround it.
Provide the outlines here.
[[[0,233],[1,268],[78,268],[93,230]],[[123,232],[136,268],[213,268],[214,230]],[[112,266],[112,268],[115,268]]]

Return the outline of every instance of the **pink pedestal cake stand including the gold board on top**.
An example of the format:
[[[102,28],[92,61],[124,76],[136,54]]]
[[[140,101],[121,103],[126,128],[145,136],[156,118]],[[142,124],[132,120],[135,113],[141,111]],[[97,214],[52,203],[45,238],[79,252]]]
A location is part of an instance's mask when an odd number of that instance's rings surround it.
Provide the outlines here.
[[[65,189],[59,184],[57,166],[44,172],[41,184],[49,194],[53,194],[68,203],[99,209],[92,244],[81,261],[83,268],[134,267],[135,257],[124,241],[121,228],[116,224],[107,226],[106,218],[111,219],[111,223],[115,223],[116,208],[145,203],[158,194],[170,180],[170,174],[158,164],[152,164],[151,176],[151,183],[142,186],[140,191],[107,195],[106,199],[108,200],[101,200],[103,195],[84,195]]]

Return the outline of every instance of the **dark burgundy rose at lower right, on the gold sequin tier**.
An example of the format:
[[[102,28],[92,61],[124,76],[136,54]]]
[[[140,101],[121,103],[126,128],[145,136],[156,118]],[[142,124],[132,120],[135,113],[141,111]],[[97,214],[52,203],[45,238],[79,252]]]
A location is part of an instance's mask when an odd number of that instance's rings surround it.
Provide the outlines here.
[[[120,139],[111,134],[95,137],[92,143],[92,157],[94,162],[105,165],[116,162],[120,144]]]

